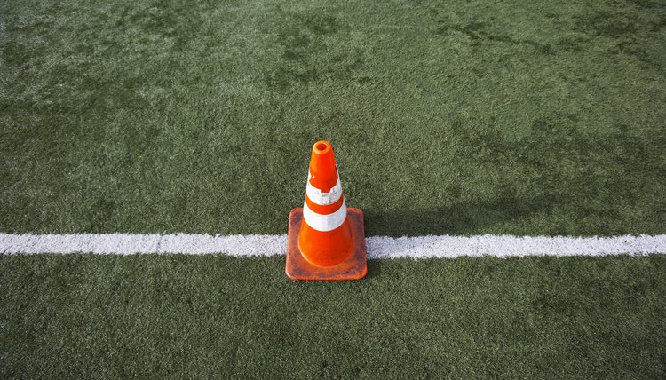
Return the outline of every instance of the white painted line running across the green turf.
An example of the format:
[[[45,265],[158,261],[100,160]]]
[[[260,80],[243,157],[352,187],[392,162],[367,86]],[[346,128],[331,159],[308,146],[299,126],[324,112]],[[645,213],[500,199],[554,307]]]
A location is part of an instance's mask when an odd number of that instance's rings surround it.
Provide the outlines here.
[[[526,256],[609,256],[666,254],[666,234],[613,237],[572,236],[373,236],[368,258],[455,258]],[[235,257],[284,255],[287,235],[208,234],[0,234],[0,254],[225,254]]]

